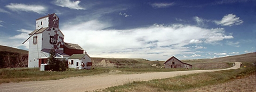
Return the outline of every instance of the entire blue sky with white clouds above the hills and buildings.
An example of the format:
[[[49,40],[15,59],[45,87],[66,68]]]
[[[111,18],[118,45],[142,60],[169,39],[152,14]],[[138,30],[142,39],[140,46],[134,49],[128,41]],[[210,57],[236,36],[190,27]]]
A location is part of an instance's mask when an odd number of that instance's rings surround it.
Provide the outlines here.
[[[0,0],[0,45],[28,50],[55,13],[66,43],[91,57],[180,60],[255,52],[256,0]]]

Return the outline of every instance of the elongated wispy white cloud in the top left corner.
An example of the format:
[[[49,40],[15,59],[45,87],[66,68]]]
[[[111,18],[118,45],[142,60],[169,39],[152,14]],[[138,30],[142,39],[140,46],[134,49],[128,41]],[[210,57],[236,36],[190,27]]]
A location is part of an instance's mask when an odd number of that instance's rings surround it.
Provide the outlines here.
[[[26,5],[26,4],[15,4],[11,3],[5,7],[9,8],[12,11],[25,11],[25,12],[36,12],[39,14],[45,13],[47,8],[42,5]]]

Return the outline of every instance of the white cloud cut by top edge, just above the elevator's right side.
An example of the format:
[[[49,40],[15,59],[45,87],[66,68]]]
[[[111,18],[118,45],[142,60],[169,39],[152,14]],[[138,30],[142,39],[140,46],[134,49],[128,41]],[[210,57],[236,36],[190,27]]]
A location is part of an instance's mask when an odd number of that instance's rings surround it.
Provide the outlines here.
[[[55,5],[58,5],[61,7],[68,7],[69,9],[85,10],[84,7],[81,7],[78,5],[80,2],[81,1],[57,0],[55,2]]]

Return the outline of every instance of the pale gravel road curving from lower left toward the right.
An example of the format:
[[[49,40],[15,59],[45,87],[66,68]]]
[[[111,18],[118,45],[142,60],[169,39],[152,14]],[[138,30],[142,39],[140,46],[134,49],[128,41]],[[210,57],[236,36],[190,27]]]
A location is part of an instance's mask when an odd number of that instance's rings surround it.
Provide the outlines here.
[[[142,74],[113,74],[103,76],[73,77],[60,80],[3,83],[0,85],[0,91],[93,91],[96,89],[123,85],[124,83],[132,81],[147,81],[153,79],[170,78],[191,73],[238,69],[239,67],[240,63],[236,62],[236,65],[231,68],[218,70],[151,72]]]

